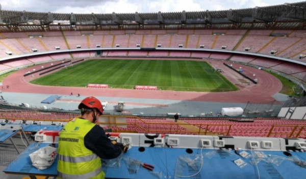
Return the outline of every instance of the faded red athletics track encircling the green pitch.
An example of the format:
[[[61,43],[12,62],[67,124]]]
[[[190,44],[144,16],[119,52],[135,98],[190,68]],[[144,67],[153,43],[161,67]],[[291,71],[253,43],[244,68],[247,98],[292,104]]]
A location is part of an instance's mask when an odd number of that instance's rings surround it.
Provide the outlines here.
[[[112,58],[114,59],[114,58]],[[132,59],[132,58],[129,58]],[[165,59],[163,59],[165,60]],[[169,59],[167,59],[169,60]],[[177,59],[175,59],[177,60]],[[182,59],[186,60],[186,59]],[[198,60],[198,59],[197,59]],[[162,91],[162,90],[134,90],[134,89],[98,89],[86,87],[53,87],[53,86],[39,86],[30,84],[28,81],[36,78],[36,76],[26,76],[23,74],[27,71],[32,71],[33,68],[38,69],[41,65],[21,69],[16,73],[9,75],[4,81],[3,86],[9,85],[5,92],[20,92],[20,93],[42,93],[42,94],[61,94],[69,95],[73,92],[74,95],[80,93],[83,96],[107,96],[107,97],[129,97],[129,98],[146,98],[146,99],[172,99],[172,100],[193,100],[193,101],[215,101],[224,103],[268,103],[273,101],[271,95],[279,92],[282,89],[282,83],[273,75],[236,63],[233,67],[239,69],[242,67],[244,73],[256,74],[254,78],[258,79],[258,84],[250,82],[248,85],[246,79],[234,70],[223,65],[221,61],[202,60],[207,61],[211,65],[221,68],[224,72],[222,74],[230,80],[233,84],[239,87],[240,90],[232,92],[182,92],[182,91]],[[55,63],[55,62],[53,62]],[[47,66],[48,64],[44,64]],[[38,74],[35,74],[38,75]]]

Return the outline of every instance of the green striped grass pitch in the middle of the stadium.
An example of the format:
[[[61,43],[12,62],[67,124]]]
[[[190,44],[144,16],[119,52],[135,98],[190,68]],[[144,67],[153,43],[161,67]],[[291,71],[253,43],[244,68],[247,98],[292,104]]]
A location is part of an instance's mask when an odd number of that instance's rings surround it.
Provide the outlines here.
[[[109,88],[128,89],[145,85],[161,90],[198,92],[237,90],[207,62],[188,60],[87,60],[31,83],[71,87],[108,84]]]

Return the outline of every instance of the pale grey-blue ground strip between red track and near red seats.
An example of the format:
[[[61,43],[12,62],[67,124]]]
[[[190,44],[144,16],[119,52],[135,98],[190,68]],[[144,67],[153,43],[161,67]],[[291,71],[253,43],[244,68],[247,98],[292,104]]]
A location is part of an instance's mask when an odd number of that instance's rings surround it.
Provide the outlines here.
[[[34,94],[34,93],[13,93],[2,92],[3,97],[8,103],[15,105],[29,104],[30,107],[54,108],[64,110],[77,110],[78,105],[86,96],[77,95],[61,95],[59,100],[52,104],[42,104],[41,101],[52,96],[50,94]],[[54,94],[56,95],[56,94]],[[221,108],[241,107],[244,108],[246,104],[240,103],[217,103],[205,101],[181,101],[181,100],[165,100],[165,99],[138,99],[138,98],[119,98],[119,97],[103,97],[96,96],[101,101],[108,101],[105,109],[106,113],[115,113],[115,107],[118,101],[124,101],[124,111],[129,111],[131,114],[145,114],[157,115],[179,112],[183,115],[200,115],[201,113],[214,112],[214,114],[221,112]],[[180,111],[177,111],[180,109]]]

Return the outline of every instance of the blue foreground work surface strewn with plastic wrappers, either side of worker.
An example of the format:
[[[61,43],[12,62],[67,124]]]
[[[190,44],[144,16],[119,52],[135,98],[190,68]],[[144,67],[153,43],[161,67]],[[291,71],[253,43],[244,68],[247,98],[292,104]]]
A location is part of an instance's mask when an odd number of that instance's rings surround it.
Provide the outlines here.
[[[23,174],[23,175],[53,175],[57,174],[55,162],[50,168],[38,170],[32,166],[29,154],[36,151],[38,148],[48,145],[47,143],[33,143],[15,161],[13,161],[5,170],[6,173]],[[104,166],[103,170],[106,177],[111,178],[159,178],[156,174],[161,174],[161,178],[182,178],[179,176],[190,176],[200,168],[200,156],[203,159],[203,165],[198,174],[189,178],[305,178],[306,166],[301,167],[295,164],[290,159],[299,159],[305,162],[306,152],[291,152],[292,157],[287,157],[282,151],[261,151],[267,157],[256,165],[251,164],[251,158],[244,159],[235,154],[233,150],[213,150],[192,149],[192,154],[189,154],[185,148],[161,148],[161,147],[143,147],[144,151],[139,151],[139,147],[132,147],[126,154],[123,154],[117,161],[120,163],[117,167]],[[246,150],[249,154],[251,151]],[[252,151],[255,152],[255,151]],[[127,169],[128,166],[123,158],[132,158],[142,163],[154,165],[154,172],[139,167],[137,172],[131,174]],[[199,158],[198,158],[199,157]],[[194,168],[188,166],[185,162],[179,162],[179,158],[188,159],[190,162],[195,162],[198,165],[193,165]],[[198,160],[194,160],[194,159]],[[246,166],[238,167],[233,160],[241,158]],[[273,160],[271,160],[273,159]],[[267,162],[270,161],[270,162]],[[276,162],[278,161],[278,163]],[[181,164],[181,165],[179,165]],[[132,165],[130,165],[132,167]]]

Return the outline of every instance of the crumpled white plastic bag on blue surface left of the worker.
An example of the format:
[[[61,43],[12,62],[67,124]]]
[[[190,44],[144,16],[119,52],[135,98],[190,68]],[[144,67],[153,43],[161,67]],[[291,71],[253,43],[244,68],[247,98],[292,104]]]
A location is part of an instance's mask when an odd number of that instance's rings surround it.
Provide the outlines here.
[[[57,149],[48,145],[34,151],[29,156],[32,161],[32,165],[39,170],[43,170],[50,167],[54,163],[57,156]]]

